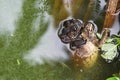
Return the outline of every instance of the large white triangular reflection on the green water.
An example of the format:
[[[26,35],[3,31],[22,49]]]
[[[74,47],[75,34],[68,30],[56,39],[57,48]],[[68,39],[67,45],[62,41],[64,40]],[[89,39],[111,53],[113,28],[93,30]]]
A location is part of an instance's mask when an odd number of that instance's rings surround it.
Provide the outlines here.
[[[38,42],[34,49],[30,50],[25,59],[29,63],[35,65],[44,62],[51,63],[61,62],[68,59],[67,53],[63,49],[61,41],[58,39],[56,30],[54,29],[53,18],[49,17],[49,27],[42,39]]]

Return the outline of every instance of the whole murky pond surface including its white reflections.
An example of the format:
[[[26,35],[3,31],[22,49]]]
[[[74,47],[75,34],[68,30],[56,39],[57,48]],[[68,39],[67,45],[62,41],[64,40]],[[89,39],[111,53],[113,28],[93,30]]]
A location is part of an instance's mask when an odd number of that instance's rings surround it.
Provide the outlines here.
[[[92,11],[88,3],[89,0],[0,0],[0,80],[104,80],[112,76],[118,70],[116,64],[104,62],[99,53],[91,68],[75,68],[73,51],[57,35],[60,21],[66,18],[94,20],[101,30],[104,17]],[[100,5],[102,11],[105,2]],[[116,34],[119,26],[116,16],[111,33]],[[88,67],[94,58],[86,63]]]

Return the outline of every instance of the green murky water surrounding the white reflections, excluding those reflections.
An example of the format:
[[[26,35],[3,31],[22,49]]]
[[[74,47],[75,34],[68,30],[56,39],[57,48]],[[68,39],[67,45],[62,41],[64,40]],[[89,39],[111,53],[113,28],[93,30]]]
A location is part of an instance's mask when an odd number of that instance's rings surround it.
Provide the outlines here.
[[[0,35],[0,80],[104,80],[114,73],[111,68],[108,68],[112,65],[102,60],[94,68],[85,72],[74,69],[70,60],[64,62],[65,65],[62,63],[55,63],[54,66],[28,64],[23,59],[23,55],[38,43],[48,28],[48,23],[43,21],[43,15],[40,19],[42,27],[39,30],[31,31],[32,22],[38,17],[38,13],[44,11],[52,13],[51,2],[45,3],[46,8],[43,11],[36,9],[34,3],[35,0],[24,0],[23,15],[16,21],[17,28],[14,36]]]

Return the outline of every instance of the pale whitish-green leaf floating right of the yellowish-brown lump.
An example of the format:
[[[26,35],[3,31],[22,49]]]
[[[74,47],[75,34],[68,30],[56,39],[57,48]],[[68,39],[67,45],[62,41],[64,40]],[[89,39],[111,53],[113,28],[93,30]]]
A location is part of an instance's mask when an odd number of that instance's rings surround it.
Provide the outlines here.
[[[117,55],[117,45],[115,44],[105,43],[101,49],[104,52],[101,54],[104,59],[113,60]]]

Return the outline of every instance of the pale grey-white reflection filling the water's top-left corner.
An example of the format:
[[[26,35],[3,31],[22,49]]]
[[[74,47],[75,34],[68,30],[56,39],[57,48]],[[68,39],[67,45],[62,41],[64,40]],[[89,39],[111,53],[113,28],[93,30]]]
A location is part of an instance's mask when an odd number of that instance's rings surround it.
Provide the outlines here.
[[[0,0],[0,33],[14,33],[15,23],[22,16],[23,0]]]

